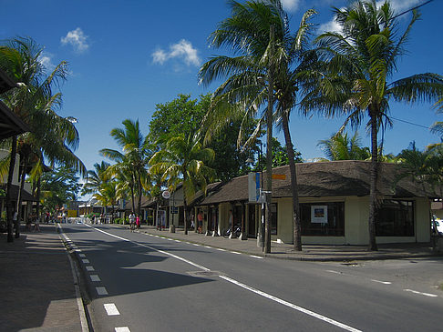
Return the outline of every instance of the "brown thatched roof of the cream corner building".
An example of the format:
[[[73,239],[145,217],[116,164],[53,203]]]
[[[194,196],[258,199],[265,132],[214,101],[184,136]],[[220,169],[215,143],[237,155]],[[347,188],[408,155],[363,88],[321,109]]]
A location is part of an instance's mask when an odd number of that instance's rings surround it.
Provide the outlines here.
[[[368,161],[357,160],[296,164],[299,196],[368,196],[370,165],[371,163]],[[377,185],[379,195],[427,196],[411,181],[407,179],[398,181],[400,173],[401,168],[396,164],[380,164]],[[273,174],[285,176],[284,180],[273,179],[273,197],[291,197],[289,166],[273,168]],[[266,187],[266,172],[263,172],[263,187]],[[248,176],[240,176],[221,186],[201,204],[210,205],[247,200]]]

